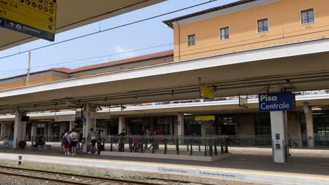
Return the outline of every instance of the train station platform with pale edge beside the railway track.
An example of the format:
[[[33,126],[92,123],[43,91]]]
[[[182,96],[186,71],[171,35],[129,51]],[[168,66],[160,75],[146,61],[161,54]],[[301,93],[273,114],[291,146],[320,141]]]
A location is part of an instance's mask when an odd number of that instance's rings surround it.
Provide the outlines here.
[[[190,181],[200,184],[329,184],[329,160],[319,156],[292,157],[292,163],[273,163],[266,152],[241,149],[212,161],[99,156],[64,156],[53,151],[0,149],[0,163],[51,167],[81,173]],[[320,150],[321,151],[321,150]],[[245,153],[245,154],[243,154]],[[314,150],[319,153],[319,150]]]

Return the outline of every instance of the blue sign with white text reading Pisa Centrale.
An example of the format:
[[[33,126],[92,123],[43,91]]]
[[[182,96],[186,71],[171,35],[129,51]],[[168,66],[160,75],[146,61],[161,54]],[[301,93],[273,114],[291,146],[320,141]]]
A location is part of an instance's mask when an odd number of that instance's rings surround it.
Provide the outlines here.
[[[292,111],[294,96],[291,92],[259,94],[259,111]]]

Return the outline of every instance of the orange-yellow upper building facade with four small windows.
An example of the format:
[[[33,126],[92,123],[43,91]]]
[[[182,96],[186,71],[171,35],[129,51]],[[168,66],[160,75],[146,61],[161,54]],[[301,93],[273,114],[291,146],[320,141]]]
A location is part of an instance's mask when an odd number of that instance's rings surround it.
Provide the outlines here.
[[[329,36],[329,1],[243,0],[164,21],[174,60],[278,46]]]

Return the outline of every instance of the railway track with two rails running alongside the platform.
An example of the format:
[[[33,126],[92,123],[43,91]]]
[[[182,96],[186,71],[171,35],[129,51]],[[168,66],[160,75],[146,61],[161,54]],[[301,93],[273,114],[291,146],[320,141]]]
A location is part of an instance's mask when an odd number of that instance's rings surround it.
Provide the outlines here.
[[[8,174],[32,179],[55,181],[63,184],[84,185],[164,185],[147,181],[133,181],[127,179],[114,179],[108,177],[96,177],[85,174],[69,174],[64,172],[51,172],[44,170],[25,169],[20,167],[7,167],[0,165],[0,174]]]

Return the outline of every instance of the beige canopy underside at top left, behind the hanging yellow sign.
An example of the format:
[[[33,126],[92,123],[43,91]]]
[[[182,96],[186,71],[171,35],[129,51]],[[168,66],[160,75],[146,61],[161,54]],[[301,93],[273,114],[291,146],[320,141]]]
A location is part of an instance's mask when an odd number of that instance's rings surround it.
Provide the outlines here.
[[[56,34],[135,11],[167,0],[59,0],[57,2]],[[37,37],[0,29],[0,50],[6,50],[23,43],[37,40]]]

